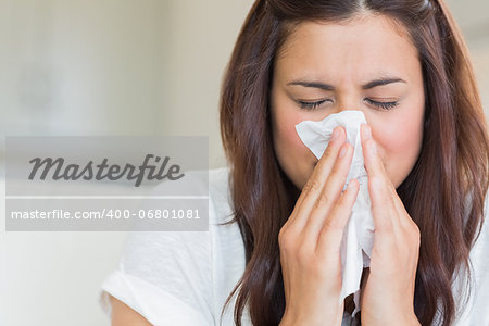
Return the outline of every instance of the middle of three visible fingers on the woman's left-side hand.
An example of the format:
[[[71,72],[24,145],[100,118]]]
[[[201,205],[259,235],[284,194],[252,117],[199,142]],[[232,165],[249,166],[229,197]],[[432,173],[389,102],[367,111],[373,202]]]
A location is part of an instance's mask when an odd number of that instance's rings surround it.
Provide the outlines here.
[[[308,235],[305,238],[314,241],[314,244],[326,216],[341,196],[352,158],[353,147],[350,143],[344,143],[323,190],[314,203],[308,224],[304,226],[304,233]]]

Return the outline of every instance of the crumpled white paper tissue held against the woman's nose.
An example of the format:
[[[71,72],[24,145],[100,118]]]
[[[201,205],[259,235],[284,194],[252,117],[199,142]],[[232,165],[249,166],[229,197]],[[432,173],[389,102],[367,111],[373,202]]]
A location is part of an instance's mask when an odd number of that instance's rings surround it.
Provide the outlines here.
[[[337,126],[344,127],[347,141],[354,147],[347,184],[350,179],[356,178],[360,183],[360,190],[341,242],[342,287],[339,301],[341,303],[346,297],[354,293],[355,311],[353,315],[360,310],[360,281],[363,268],[369,266],[374,244],[374,221],[360,138],[360,126],[364,123],[366,121],[363,112],[346,110],[330,114],[323,121],[303,121],[296,125],[302,142],[317,159],[323,155],[333,130]]]

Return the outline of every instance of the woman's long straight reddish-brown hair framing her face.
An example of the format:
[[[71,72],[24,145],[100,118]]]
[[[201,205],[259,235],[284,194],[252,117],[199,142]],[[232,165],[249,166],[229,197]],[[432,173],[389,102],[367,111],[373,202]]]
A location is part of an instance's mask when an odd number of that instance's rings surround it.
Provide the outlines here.
[[[278,233],[300,189],[274,151],[268,108],[274,60],[297,23],[341,22],[362,12],[393,18],[418,51],[426,99],[423,145],[397,190],[422,237],[415,313],[423,325],[437,314],[441,325],[455,318],[451,285],[459,268],[469,272],[469,250],[484,223],[489,140],[466,45],[444,1],[258,0],[239,33],[220,102],[234,209],[226,224],[238,223],[247,262],[221,316],[239,289],[237,325],[247,304],[253,325],[278,325],[286,303]]]

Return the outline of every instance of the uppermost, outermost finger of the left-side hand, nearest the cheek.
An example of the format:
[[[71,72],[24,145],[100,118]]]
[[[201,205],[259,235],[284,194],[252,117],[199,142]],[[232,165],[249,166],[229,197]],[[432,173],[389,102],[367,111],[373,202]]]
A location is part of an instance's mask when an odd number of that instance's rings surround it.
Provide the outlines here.
[[[347,135],[344,128],[335,128],[326,150],[314,167],[314,171],[304,187],[302,187],[301,195],[299,196],[296,208],[289,218],[290,224],[293,224],[298,229],[302,230],[306,224],[309,215],[314,206],[314,202],[319,196],[346,139]]]

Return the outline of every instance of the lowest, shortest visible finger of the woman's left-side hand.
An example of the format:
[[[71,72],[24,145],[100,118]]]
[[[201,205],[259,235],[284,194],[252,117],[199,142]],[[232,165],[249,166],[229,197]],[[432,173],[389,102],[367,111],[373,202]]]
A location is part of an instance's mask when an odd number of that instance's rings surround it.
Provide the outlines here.
[[[344,227],[359,195],[360,184],[351,179],[331,213],[325,218],[317,238],[316,252],[319,256],[339,253]]]

